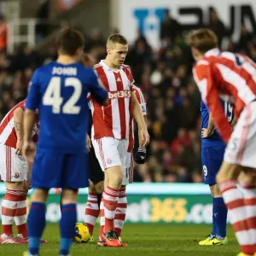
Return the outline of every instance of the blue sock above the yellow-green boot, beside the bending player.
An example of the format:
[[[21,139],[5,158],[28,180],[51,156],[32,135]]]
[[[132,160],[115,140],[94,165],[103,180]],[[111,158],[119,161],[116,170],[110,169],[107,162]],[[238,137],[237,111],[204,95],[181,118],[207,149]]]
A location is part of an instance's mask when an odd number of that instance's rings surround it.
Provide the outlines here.
[[[227,208],[222,197],[213,198],[213,222],[216,224],[216,237],[218,240],[224,239],[227,227]]]

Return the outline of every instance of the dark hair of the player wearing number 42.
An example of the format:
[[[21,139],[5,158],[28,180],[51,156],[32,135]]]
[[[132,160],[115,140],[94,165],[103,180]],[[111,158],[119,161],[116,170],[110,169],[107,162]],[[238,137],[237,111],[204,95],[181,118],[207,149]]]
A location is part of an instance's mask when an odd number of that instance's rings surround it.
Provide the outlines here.
[[[61,30],[56,39],[58,51],[65,55],[75,55],[77,49],[84,49],[84,36],[73,28]]]

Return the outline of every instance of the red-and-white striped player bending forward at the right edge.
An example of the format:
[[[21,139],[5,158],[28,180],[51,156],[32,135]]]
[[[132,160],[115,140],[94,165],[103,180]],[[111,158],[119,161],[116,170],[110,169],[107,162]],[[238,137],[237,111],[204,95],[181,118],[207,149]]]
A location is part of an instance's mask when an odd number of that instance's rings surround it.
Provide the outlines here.
[[[256,252],[256,64],[245,55],[222,52],[218,38],[208,29],[190,32],[188,43],[196,65],[194,78],[218,132],[227,143],[217,182],[229,210],[230,222],[241,246],[239,255]],[[232,132],[220,97],[235,104]],[[239,178],[243,194],[237,189]]]

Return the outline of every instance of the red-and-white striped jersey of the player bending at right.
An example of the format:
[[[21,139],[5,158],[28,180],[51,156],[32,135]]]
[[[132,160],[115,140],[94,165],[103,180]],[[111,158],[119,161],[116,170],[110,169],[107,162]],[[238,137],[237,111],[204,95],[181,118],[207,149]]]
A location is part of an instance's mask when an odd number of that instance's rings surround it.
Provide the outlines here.
[[[256,64],[245,55],[211,49],[196,63],[193,72],[202,100],[227,143],[232,131],[220,98],[226,97],[235,104],[238,119],[244,106],[256,98]]]

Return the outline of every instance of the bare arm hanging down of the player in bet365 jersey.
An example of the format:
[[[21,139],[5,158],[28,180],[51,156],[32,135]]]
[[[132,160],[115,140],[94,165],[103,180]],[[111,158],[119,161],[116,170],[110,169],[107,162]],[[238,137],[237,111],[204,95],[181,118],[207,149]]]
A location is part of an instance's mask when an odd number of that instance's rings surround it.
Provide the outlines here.
[[[149,143],[148,129],[147,129],[145,120],[143,118],[143,112],[141,110],[141,106],[137,101],[137,97],[133,93],[131,93],[131,106],[132,106],[133,117],[137,121],[142,146],[146,147]]]

